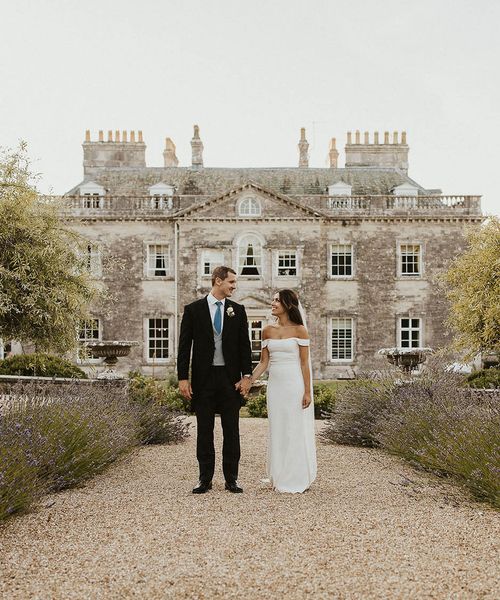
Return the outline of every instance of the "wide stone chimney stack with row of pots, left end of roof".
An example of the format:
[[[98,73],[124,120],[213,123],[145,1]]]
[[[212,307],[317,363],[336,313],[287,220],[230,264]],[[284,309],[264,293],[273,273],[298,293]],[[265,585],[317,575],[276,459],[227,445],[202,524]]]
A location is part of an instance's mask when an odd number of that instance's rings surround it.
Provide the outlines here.
[[[138,132],[136,141],[135,131],[116,130],[108,131],[108,139],[104,141],[104,132],[101,130],[97,141],[92,141],[90,130],[85,132],[83,142],[83,172],[91,169],[103,169],[106,167],[145,167],[146,166],[146,144],[142,140],[142,131]]]

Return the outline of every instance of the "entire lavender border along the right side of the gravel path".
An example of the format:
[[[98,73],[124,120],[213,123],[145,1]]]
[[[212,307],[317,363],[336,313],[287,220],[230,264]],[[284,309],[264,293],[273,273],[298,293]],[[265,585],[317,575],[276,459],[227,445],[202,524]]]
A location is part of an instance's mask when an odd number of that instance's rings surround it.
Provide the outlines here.
[[[464,386],[439,359],[417,378],[385,376],[339,393],[322,437],[377,446],[453,476],[500,507],[500,394]]]

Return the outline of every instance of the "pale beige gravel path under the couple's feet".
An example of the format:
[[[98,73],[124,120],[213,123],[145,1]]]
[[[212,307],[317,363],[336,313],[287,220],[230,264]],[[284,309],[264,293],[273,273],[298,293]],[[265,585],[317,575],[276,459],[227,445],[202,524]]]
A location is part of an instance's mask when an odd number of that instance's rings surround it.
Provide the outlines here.
[[[376,450],[321,443],[311,490],[279,494],[260,482],[267,422],[242,419],[241,432],[244,494],[225,492],[220,471],[211,492],[191,494],[192,436],[8,522],[0,597],[498,597],[487,505]]]

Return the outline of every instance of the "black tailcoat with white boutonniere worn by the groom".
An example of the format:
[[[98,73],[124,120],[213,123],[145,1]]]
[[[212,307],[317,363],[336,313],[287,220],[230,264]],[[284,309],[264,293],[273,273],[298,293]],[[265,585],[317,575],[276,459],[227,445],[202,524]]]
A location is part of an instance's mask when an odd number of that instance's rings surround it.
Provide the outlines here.
[[[234,316],[227,310],[232,307]],[[245,307],[226,298],[222,328],[222,353],[226,372],[231,383],[236,383],[242,375],[252,372],[252,351],[248,337],[248,322]],[[191,360],[192,349],[192,360]],[[177,376],[189,379],[191,360],[191,386],[193,388],[192,408],[196,407],[196,393],[203,388],[210,377],[210,367],[214,360],[215,343],[210,308],[207,297],[196,300],[184,307],[179,350],[177,354]],[[237,392],[235,391],[235,394]]]

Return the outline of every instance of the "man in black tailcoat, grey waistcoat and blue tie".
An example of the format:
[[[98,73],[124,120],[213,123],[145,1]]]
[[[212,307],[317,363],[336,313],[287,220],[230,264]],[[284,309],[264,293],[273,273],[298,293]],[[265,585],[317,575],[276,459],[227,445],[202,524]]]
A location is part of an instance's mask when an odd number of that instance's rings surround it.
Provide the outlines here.
[[[239,411],[241,396],[246,396],[250,390],[252,353],[245,308],[229,300],[235,289],[235,271],[229,267],[217,267],[212,273],[210,294],[184,308],[177,374],[179,390],[191,400],[196,413],[196,458],[200,480],[193,494],[204,494],[212,487],[216,413],[220,414],[224,436],[222,470],[226,490],[243,492],[237,482]],[[189,382],[191,347],[192,383]]]

